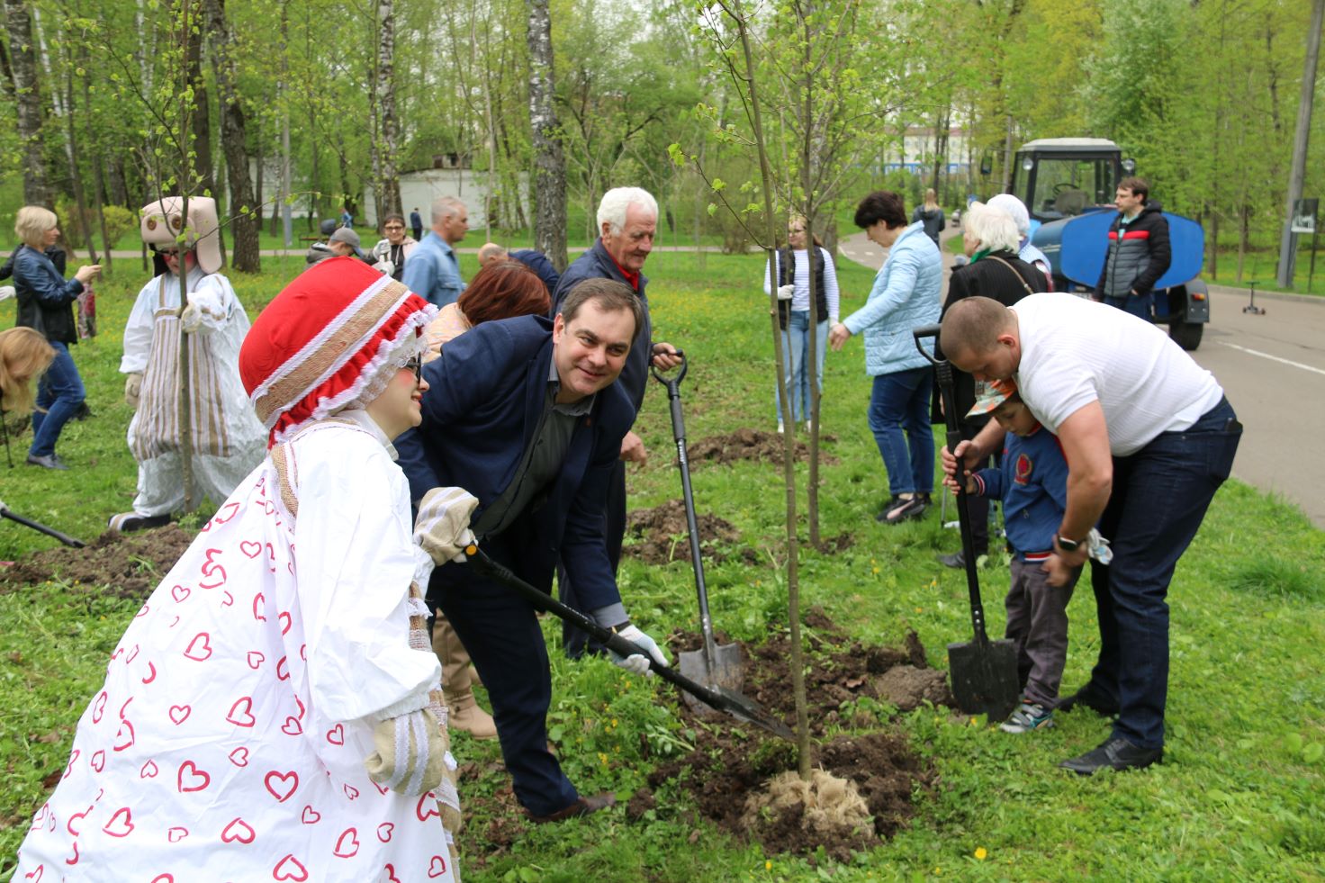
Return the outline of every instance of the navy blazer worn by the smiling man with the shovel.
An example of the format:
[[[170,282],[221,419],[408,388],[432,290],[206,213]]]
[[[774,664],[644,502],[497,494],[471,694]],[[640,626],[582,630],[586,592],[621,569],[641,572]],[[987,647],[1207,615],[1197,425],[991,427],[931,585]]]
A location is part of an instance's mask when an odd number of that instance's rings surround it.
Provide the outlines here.
[[[413,502],[436,487],[478,497],[472,524],[510,484],[545,407],[553,324],[542,316],[484,322],[449,341],[424,366],[423,424],[396,439]],[[526,582],[551,590],[558,558],[580,593],[583,610],[620,603],[603,541],[608,479],[635,410],[620,384],[598,394],[579,420],[560,475],[484,549]],[[480,538],[484,541],[485,538]],[[474,579],[460,563],[432,574],[429,603],[448,585]]]

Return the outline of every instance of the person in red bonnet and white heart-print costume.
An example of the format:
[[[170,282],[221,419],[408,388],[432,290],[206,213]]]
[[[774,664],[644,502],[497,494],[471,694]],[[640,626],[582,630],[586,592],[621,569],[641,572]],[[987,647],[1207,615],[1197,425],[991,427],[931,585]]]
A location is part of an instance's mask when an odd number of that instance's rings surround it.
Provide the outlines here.
[[[111,654],[16,879],[457,879],[433,561],[391,445],[435,313],[338,257],[254,322],[240,373],[273,447]],[[432,538],[462,542],[472,497],[435,493]]]

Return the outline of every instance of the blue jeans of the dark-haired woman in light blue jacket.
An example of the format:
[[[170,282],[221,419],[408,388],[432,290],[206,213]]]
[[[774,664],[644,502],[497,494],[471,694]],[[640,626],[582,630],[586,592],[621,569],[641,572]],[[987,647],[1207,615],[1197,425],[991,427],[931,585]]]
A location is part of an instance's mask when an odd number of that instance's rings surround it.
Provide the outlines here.
[[[931,367],[874,378],[869,396],[869,430],[884,457],[888,488],[894,496],[930,493],[934,489],[934,430],[929,424],[933,388]]]

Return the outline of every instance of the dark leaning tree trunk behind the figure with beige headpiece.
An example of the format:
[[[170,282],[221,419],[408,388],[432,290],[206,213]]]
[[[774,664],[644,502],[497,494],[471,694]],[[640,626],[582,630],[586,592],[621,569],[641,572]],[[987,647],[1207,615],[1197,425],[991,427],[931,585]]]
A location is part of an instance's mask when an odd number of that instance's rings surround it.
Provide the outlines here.
[[[225,19],[225,0],[203,0],[203,5],[207,11],[216,89],[221,102],[221,148],[225,151],[225,167],[229,171],[229,216],[231,227],[235,231],[235,253],[231,263],[237,270],[257,273],[262,268],[257,239],[261,217],[253,206],[253,179],[249,175],[248,150],[245,148],[248,138],[244,107],[240,105],[232,56],[235,38],[231,34],[229,21]]]

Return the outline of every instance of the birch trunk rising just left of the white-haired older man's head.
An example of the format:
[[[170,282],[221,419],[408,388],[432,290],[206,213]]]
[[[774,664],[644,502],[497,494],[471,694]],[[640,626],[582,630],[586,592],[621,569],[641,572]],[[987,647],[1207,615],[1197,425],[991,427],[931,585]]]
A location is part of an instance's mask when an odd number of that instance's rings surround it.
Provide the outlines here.
[[[566,156],[553,107],[553,20],[529,0],[529,122],[534,134],[534,248],[566,269]]]

